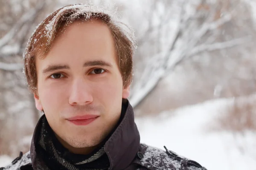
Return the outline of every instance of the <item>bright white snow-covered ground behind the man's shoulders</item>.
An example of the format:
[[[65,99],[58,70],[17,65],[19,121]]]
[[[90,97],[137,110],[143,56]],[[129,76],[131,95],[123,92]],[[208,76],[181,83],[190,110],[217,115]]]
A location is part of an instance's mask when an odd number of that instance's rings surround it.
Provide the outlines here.
[[[136,118],[141,142],[195,160],[207,170],[256,170],[256,134],[210,130],[232,99],[214,99]],[[0,167],[13,158],[0,156]]]

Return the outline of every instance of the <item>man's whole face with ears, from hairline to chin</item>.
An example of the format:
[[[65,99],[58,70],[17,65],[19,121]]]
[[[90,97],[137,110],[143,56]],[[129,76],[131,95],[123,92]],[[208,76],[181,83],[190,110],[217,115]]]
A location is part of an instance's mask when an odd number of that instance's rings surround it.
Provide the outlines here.
[[[120,118],[122,98],[129,96],[108,26],[99,20],[71,24],[47,56],[36,59],[36,70],[36,107],[60,142],[85,148],[105,139]]]

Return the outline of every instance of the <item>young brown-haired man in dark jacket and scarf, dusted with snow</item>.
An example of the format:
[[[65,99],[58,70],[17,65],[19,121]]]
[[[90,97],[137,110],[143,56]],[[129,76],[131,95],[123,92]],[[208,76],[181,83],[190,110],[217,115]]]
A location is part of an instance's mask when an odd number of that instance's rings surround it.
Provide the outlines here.
[[[205,170],[166,148],[140,144],[127,100],[134,48],[107,11],[75,4],[50,14],[23,56],[44,115],[30,152],[2,170]]]

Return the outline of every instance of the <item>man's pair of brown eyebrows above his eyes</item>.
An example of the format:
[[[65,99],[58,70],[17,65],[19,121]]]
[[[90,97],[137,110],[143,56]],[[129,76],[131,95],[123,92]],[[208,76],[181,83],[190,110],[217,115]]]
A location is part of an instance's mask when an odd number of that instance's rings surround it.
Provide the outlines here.
[[[94,60],[94,61],[87,61],[84,63],[83,67],[88,67],[88,66],[107,66],[107,67],[113,67],[111,63],[105,62],[102,60]],[[70,69],[68,65],[49,65],[47,68],[43,70],[43,73],[49,73],[55,70],[61,70],[61,69]]]

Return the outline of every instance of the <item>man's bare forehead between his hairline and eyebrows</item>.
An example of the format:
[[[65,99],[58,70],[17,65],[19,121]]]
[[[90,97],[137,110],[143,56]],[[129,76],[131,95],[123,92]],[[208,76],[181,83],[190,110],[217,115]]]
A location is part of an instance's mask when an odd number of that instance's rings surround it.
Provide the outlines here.
[[[44,59],[111,59],[109,57],[116,56],[114,44],[111,29],[101,20],[76,21],[59,30]]]

